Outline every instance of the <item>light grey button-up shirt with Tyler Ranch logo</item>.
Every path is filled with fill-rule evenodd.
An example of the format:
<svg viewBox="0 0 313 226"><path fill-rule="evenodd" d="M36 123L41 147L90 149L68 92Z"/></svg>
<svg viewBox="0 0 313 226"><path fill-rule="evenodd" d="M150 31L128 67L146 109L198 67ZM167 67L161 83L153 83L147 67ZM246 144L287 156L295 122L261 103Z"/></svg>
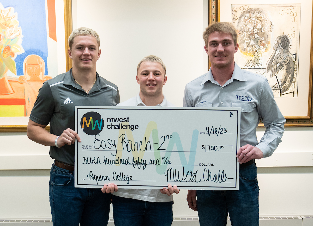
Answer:
<svg viewBox="0 0 313 226"><path fill-rule="evenodd" d="M285 118L281 114L267 79L241 69L236 63L231 79L221 86L208 73L189 82L185 87L183 106L239 107L240 147L258 147L264 157L272 155L284 133ZM260 143L256 137L259 120L266 128Z"/></svg>

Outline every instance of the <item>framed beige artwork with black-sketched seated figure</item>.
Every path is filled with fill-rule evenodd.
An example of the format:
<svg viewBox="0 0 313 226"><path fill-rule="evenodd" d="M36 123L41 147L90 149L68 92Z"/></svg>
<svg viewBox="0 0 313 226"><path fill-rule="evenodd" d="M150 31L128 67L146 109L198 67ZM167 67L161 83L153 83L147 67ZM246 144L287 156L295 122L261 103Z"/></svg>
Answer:
<svg viewBox="0 0 313 226"><path fill-rule="evenodd" d="M261 3L209 0L209 24L231 22L237 29L234 60L268 79L285 126L313 126L312 1Z"/></svg>

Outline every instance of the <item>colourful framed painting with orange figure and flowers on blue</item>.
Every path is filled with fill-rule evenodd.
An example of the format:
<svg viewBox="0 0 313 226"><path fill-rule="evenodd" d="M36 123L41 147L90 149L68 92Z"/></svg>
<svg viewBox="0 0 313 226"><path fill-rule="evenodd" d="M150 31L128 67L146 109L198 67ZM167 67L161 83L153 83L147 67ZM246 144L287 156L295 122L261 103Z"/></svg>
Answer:
<svg viewBox="0 0 313 226"><path fill-rule="evenodd" d="M0 132L26 131L38 90L59 74L60 58L71 67L71 0L60 2L0 0Z"/></svg>

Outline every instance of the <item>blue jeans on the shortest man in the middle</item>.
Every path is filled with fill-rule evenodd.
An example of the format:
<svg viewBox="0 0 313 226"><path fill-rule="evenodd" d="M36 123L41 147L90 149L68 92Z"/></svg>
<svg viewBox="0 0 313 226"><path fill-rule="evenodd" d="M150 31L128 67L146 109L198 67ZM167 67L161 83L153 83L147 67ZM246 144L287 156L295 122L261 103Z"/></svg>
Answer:
<svg viewBox="0 0 313 226"><path fill-rule="evenodd" d="M173 202L146 202L113 195L115 226L171 226Z"/></svg>

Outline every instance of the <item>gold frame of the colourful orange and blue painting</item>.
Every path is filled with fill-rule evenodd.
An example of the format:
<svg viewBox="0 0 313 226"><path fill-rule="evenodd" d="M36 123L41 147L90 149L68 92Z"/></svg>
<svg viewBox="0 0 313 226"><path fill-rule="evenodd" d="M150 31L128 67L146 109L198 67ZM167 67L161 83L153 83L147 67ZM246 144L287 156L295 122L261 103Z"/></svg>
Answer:
<svg viewBox="0 0 313 226"><path fill-rule="evenodd" d="M68 42L67 39L72 32L72 0L64 0L64 31L65 31L65 59L66 59L66 71L72 67L72 61L68 55ZM26 118L26 117L25 117ZM50 126L47 125L46 130L50 130ZM0 132L26 132L27 125L0 125Z"/></svg>

